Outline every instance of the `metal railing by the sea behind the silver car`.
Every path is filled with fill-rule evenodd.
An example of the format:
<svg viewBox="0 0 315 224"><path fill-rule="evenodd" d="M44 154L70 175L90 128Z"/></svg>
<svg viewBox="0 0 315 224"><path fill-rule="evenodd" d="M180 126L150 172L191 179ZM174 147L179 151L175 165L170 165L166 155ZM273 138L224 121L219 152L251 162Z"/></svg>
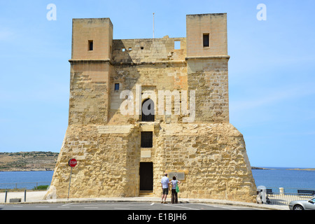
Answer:
<svg viewBox="0 0 315 224"><path fill-rule="evenodd" d="M267 188L267 187L266 187ZM267 188L267 204L288 205L292 201L310 200L314 195L298 193L297 190L314 190L305 188Z"/></svg>

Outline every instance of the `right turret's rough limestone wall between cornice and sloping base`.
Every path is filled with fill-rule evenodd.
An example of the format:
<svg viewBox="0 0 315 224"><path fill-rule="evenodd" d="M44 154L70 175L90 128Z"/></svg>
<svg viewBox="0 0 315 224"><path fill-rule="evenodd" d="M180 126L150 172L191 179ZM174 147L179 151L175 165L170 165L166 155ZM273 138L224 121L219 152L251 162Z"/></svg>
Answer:
<svg viewBox="0 0 315 224"><path fill-rule="evenodd" d="M196 123L229 123L228 57L188 59L189 90L196 91Z"/></svg>

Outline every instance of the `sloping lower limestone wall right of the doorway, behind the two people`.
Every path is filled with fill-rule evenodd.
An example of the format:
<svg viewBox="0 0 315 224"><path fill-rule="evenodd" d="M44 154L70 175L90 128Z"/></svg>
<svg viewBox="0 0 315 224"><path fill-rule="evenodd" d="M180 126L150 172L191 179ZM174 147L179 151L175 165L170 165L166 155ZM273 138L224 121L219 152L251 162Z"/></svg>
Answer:
<svg viewBox="0 0 315 224"><path fill-rule="evenodd" d="M235 127L230 124L161 127L156 173L161 177L164 170L185 172L181 197L253 202L255 182L243 136ZM156 180L155 195L160 193L158 187Z"/></svg>

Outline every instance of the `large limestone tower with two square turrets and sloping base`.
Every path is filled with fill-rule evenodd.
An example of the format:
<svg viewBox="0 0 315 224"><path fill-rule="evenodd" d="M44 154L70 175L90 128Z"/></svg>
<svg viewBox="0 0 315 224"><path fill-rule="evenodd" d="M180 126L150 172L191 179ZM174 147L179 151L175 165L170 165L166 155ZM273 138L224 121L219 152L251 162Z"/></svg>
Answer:
<svg viewBox="0 0 315 224"><path fill-rule="evenodd" d="M244 138L229 123L227 15L187 15L186 38L113 40L74 19L69 126L46 197L161 195L253 202ZM148 113L149 111L149 113Z"/></svg>

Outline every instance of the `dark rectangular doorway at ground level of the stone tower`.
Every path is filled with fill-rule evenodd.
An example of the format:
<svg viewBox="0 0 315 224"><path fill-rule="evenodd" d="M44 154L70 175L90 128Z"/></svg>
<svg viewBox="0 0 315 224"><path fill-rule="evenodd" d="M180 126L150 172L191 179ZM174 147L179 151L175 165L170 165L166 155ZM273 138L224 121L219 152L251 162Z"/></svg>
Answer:
<svg viewBox="0 0 315 224"><path fill-rule="evenodd" d="M140 190L153 190L153 162L140 162Z"/></svg>

